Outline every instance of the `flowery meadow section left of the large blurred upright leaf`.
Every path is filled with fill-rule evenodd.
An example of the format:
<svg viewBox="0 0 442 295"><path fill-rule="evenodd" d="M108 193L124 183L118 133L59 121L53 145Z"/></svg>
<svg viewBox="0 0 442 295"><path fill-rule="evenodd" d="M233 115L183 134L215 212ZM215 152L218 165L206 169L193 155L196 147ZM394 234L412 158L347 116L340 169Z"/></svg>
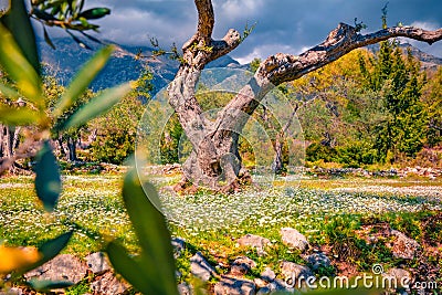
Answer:
<svg viewBox="0 0 442 295"><path fill-rule="evenodd" d="M0 236L10 245L39 245L75 229L65 250L80 256L98 251L102 239L117 238L136 249L135 236L119 197L120 176L64 177L56 210L48 214L38 202L32 178L0 182Z"/></svg>

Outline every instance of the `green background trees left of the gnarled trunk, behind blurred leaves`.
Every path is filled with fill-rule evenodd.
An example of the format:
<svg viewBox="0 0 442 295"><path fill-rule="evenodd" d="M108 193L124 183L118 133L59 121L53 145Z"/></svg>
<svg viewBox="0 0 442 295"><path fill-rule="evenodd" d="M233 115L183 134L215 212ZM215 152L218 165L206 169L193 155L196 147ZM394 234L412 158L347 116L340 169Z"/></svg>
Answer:
<svg viewBox="0 0 442 295"><path fill-rule="evenodd" d="M146 70L140 74L136 82L135 89L114 106L106 115L97 117L87 124L73 127L63 133L53 133L52 144L60 159L76 161L99 161L110 164L123 164L124 160L134 152L137 124L140 119L144 106L143 102L150 98L152 86L150 81L151 73ZM8 84L8 77L2 75L3 83ZM55 106L59 97L65 92L65 87L59 83L55 76L46 75L43 81L43 92L48 99L46 105L51 109ZM65 119L82 105L90 102L97 94L86 91L75 104L64 112L52 124L63 125ZM15 107L24 106L25 102L21 98L11 101L0 96L2 104ZM54 128L57 129L57 128ZM24 158L20 154L20 147L30 134L32 127L21 127L11 125L0 125L0 165L9 165L13 161L11 169L28 168L29 159L24 161L15 160Z"/></svg>

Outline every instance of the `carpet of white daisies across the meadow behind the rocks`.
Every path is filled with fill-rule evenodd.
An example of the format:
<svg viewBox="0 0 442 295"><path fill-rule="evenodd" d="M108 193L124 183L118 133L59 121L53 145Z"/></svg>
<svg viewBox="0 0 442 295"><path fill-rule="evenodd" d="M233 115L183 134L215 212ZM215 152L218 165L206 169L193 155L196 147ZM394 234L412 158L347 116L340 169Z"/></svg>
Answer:
<svg viewBox="0 0 442 295"><path fill-rule="evenodd" d="M159 209L172 235L210 252L231 246L246 233L276 236L293 226L315 243L324 243L328 220L336 217L413 217L442 210L442 180L290 179L281 186L252 186L235 194L198 192L177 196L170 183L178 176L150 179L159 190ZM118 239L137 251L135 235L120 199L122 176L64 176L55 211L36 201L32 177L0 179L0 239L10 245L39 245L75 230L65 250L85 255L102 242ZM351 218L350 218L351 219ZM328 229L329 230L329 229ZM210 249L209 249L210 247Z"/></svg>

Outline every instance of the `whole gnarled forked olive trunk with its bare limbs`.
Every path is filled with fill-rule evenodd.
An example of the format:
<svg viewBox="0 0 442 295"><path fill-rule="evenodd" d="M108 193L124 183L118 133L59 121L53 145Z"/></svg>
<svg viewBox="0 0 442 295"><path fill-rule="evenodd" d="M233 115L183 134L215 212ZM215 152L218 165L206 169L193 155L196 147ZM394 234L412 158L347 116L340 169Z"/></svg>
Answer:
<svg viewBox="0 0 442 295"><path fill-rule="evenodd" d="M197 102L196 84L206 64L228 54L243 39L238 31L231 29L222 40L212 40L214 27L212 2L194 0L194 3L198 10L198 29L182 46L181 65L168 87L169 103L177 112L183 131L193 148L183 165L185 178L180 183L181 187L189 181L193 186L203 185L214 190L238 187L238 176L241 170L241 158L238 152L239 134L249 116L274 86L299 78L355 49L390 38L407 36L429 44L442 39L442 29L425 31L412 27L393 27L362 35L354 27L339 23L322 44L299 56L278 53L263 61L253 78L212 123L204 118L202 108Z"/></svg>

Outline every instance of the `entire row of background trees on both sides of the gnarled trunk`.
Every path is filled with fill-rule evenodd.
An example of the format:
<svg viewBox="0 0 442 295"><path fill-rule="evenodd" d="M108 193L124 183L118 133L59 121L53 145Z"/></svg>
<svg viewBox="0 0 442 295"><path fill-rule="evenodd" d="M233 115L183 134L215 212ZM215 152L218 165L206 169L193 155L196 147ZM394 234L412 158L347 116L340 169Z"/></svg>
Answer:
<svg viewBox="0 0 442 295"><path fill-rule="evenodd" d="M253 61L251 70L256 70L259 63ZM8 77L3 75L2 80L7 82ZM146 70L138 80L137 89L109 113L87 125L53 134L59 156L67 161L123 164L134 152L137 125L152 89L150 80L151 74ZM280 89L297 110L308 146L307 160L356 167L402 161L415 157L424 147L442 144L441 81L441 67L424 72L410 51L403 52L397 41L385 41L375 54L368 50L351 52L295 82L283 84ZM44 92L52 99L48 102L50 107L63 91L54 76L45 77ZM232 98L232 94L225 93L198 94L207 92L204 85L197 92L206 110L224 107ZM93 96L94 93L86 92L63 117L69 117ZM20 99L9 102L18 107L22 103ZM267 148L275 152L273 168L280 173L288 162L287 154L293 151L288 151L283 143L281 130L284 126L277 126L269 114L262 105L253 117L271 137ZM63 117L54 124L62 124ZM32 130L0 127L0 157L13 158L20 141ZM180 155L188 156L191 148L180 146L182 137L183 129L178 116L173 115L159 139L162 164L178 162ZM255 139L260 140L259 137ZM245 164L256 160L252 149L254 144L240 137L239 151Z"/></svg>

